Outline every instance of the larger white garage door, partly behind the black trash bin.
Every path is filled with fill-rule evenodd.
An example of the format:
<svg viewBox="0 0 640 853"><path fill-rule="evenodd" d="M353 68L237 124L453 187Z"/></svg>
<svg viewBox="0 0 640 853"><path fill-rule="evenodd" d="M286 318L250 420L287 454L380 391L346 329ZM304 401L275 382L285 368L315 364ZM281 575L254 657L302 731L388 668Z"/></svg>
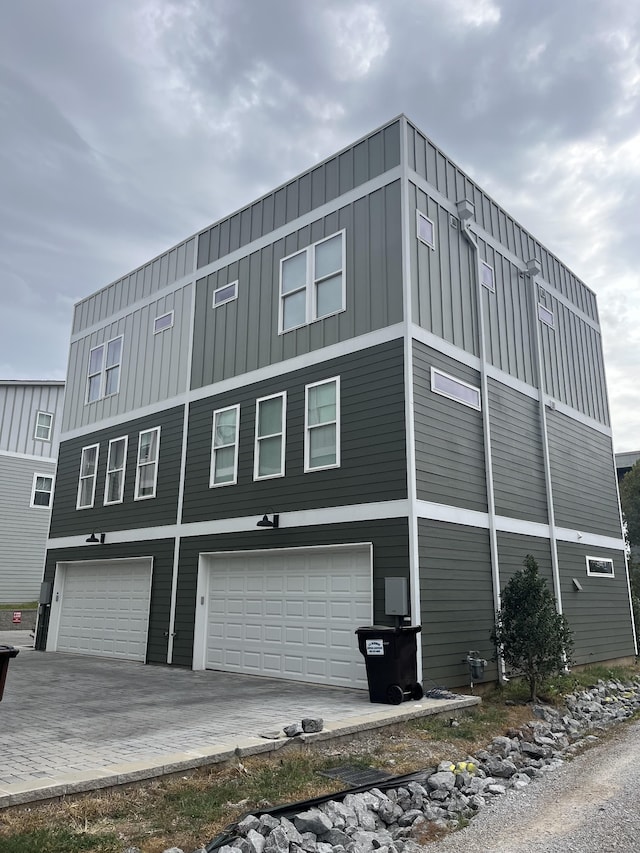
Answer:
<svg viewBox="0 0 640 853"><path fill-rule="evenodd" d="M355 630L371 624L370 546L201 559L207 669L366 688Z"/></svg>

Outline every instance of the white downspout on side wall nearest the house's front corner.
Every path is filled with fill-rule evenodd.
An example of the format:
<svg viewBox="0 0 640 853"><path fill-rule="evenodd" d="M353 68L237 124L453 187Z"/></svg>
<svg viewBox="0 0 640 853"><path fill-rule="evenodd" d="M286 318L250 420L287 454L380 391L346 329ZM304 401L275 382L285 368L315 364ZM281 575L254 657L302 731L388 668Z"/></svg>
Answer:
<svg viewBox="0 0 640 853"><path fill-rule="evenodd" d="M496 532L496 507L493 491L493 462L491 456L491 419L489 412L489 386L487 383L487 358L484 329L484 305L483 292L480 279L480 252L475 235L471 231L471 220L475 214L475 207L469 199L462 199L456 205L458 217L464 234L473 255L473 270L476 280L476 303L478 316L478 337L480 339L480 398L482 400L482 426L484 438L484 470L487 484L487 510L489 515L489 546L491 552L491 581L493 587L493 611L494 618L500 610L500 564L498 562L498 535ZM504 658L497 650L498 655L498 680L500 684L509 681L505 672Z"/></svg>

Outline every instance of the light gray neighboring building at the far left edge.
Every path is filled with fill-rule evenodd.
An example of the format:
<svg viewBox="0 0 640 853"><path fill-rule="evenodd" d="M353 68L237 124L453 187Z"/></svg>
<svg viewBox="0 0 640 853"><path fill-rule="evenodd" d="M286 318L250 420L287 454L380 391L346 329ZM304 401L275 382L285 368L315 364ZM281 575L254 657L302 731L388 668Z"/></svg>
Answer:
<svg viewBox="0 0 640 853"><path fill-rule="evenodd" d="M37 600L64 382L0 380L0 603Z"/></svg>

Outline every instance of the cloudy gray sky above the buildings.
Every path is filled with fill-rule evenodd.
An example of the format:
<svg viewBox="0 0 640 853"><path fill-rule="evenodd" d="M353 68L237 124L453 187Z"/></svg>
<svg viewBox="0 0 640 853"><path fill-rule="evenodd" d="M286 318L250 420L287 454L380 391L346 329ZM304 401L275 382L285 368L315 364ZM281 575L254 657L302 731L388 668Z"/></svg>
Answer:
<svg viewBox="0 0 640 853"><path fill-rule="evenodd" d="M400 112L598 296L640 449L640 3L3 0L0 377L72 305Z"/></svg>

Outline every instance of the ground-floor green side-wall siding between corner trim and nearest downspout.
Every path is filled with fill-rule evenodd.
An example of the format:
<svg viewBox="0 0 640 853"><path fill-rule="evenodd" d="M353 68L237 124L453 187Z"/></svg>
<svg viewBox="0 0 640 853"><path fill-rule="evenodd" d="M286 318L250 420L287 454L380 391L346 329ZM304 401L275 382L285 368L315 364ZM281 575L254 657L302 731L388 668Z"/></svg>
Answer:
<svg viewBox="0 0 640 853"><path fill-rule="evenodd" d="M495 680L489 531L419 519L418 553L425 685L468 684L471 650L489 661L485 680Z"/></svg>

